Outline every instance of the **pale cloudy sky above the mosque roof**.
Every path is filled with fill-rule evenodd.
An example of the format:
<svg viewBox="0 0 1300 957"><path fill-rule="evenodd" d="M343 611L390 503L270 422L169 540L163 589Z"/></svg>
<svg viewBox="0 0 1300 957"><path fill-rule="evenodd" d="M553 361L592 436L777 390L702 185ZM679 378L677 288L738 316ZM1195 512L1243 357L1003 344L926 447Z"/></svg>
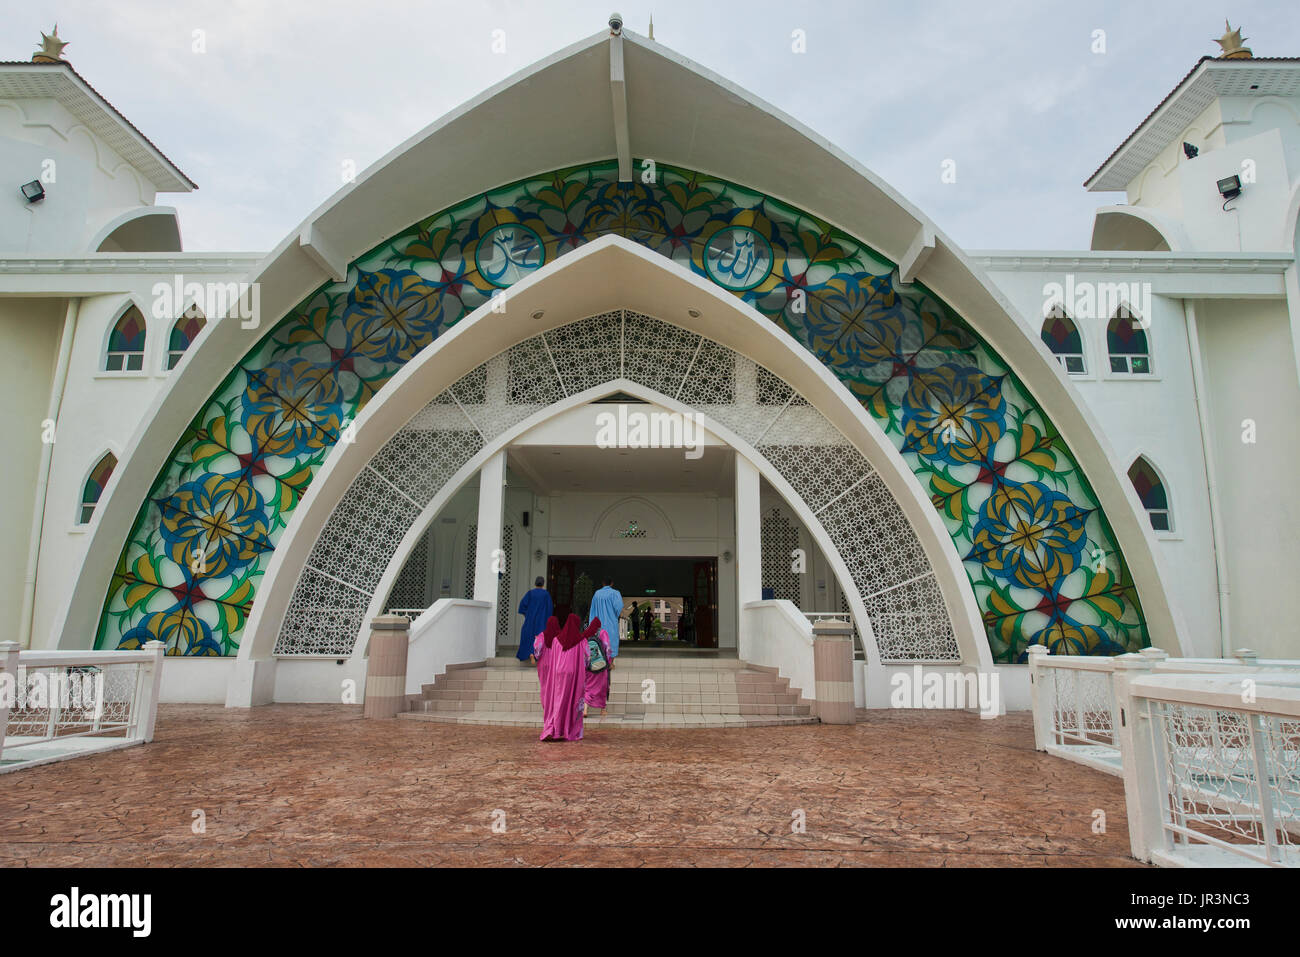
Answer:
<svg viewBox="0 0 1300 957"><path fill-rule="evenodd" d="M653 13L660 43L802 120L967 248L1087 248L1092 209L1122 195L1083 181L1218 52L1225 12L1256 56L1300 56L1295 0L27 0L4 13L0 60L29 59L57 21L66 59L199 183L159 198L186 248L260 251L338 189L343 160L365 169L603 29L615 3L629 30Z"/></svg>

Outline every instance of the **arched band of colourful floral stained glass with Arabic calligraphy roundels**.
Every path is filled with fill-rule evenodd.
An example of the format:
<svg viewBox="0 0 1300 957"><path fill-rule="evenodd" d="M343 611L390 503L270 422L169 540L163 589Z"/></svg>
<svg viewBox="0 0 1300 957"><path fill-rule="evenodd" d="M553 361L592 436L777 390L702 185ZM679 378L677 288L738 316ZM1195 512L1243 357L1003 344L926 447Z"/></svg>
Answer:
<svg viewBox="0 0 1300 957"><path fill-rule="evenodd" d="M1050 421L922 283L827 222L734 183L612 160L491 190L413 224L244 356L181 437L122 550L98 646L234 654L292 511L347 424L491 295L602 235L728 289L829 368L928 488L997 661L1034 644L1148 644L1096 495Z"/></svg>

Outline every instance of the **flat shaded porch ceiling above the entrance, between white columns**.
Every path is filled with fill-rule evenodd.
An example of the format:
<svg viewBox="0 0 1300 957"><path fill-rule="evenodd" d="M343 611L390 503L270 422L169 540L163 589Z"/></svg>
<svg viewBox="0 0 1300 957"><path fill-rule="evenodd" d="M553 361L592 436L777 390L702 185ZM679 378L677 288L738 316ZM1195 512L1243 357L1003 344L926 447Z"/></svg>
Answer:
<svg viewBox="0 0 1300 957"><path fill-rule="evenodd" d="M685 449L597 449L593 446L521 446L510 450L511 473L533 492L676 492L731 495L736 488L734 452L703 446L688 459Z"/></svg>

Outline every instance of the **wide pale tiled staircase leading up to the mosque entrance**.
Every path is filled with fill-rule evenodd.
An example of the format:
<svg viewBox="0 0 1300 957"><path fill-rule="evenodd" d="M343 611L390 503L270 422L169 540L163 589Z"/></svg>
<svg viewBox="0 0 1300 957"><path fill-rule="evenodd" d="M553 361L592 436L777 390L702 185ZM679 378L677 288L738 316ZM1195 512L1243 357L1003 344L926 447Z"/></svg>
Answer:
<svg viewBox="0 0 1300 957"><path fill-rule="evenodd" d="M646 679L654 683L647 697ZM515 658L454 664L421 694L407 696L399 718L447 724L542 727L537 671ZM588 727L753 728L814 724L810 702L789 681L725 653L675 654L624 645L610 683L610 707Z"/></svg>

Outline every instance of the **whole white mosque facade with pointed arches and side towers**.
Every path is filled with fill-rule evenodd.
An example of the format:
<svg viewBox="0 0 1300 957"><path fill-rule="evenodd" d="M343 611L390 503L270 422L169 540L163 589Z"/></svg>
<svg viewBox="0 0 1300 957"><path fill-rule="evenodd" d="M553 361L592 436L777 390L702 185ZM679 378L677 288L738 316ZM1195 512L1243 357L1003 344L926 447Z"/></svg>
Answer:
<svg viewBox="0 0 1300 957"><path fill-rule="evenodd" d="M23 648L337 701L378 614L437 670L608 573L794 685L796 619L852 616L871 707L915 663L1023 707L1035 644L1300 657L1300 60L1197 62L1088 181L1124 194L1088 250L958 248L630 31L269 254L183 251L195 185L56 56L0 64L0 173Z"/></svg>

